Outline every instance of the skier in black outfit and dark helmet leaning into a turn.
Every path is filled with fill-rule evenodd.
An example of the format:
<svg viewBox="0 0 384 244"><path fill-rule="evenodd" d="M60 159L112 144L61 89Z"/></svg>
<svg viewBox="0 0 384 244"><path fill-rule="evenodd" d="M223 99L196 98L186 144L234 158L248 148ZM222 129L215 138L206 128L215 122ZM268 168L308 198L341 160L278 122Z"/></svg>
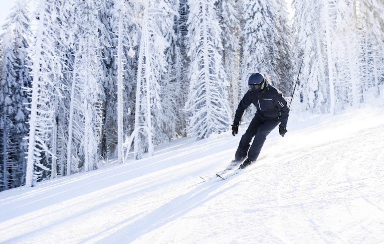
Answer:
<svg viewBox="0 0 384 244"><path fill-rule="evenodd" d="M228 170L233 169L238 165L240 165L240 169L243 169L256 161L260 154L261 147L264 144L265 137L279 123L280 135L284 136L287 132L286 127L289 108L281 92L269 84L264 76L259 73L253 73L249 77L248 86L249 90L241 99L235 113L235 118L232 124L233 136L238 132L239 123L244 110L247 109L249 105L253 104L257 111L247 130L241 137L235 153L235 160L228 165ZM255 138L250 146L252 137ZM244 161L247 154L248 158ZM241 162L243 163L241 164Z"/></svg>

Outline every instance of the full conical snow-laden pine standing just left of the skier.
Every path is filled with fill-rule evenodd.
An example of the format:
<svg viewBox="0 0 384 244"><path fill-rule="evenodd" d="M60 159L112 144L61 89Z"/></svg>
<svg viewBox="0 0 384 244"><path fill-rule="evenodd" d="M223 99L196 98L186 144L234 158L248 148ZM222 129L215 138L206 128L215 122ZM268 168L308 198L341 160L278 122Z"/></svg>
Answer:
<svg viewBox="0 0 384 244"><path fill-rule="evenodd" d="M190 113L189 131L197 135L197 139L228 130L231 119L227 100L229 83L222 63L221 27L215 2L188 2L188 55L191 66L185 109Z"/></svg>

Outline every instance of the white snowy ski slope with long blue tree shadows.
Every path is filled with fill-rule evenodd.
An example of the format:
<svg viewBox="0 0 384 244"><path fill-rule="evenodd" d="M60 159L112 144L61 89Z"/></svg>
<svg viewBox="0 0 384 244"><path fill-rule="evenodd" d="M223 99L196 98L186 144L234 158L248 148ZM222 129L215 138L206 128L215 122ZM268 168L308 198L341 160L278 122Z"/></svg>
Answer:
<svg viewBox="0 0 384 244"><path fill-rule="evenodd" d="M302 118L302 117L300 117ZM384 243L384 106L291 113L226 180L241 134L0 192L0 243Z"/></svg>

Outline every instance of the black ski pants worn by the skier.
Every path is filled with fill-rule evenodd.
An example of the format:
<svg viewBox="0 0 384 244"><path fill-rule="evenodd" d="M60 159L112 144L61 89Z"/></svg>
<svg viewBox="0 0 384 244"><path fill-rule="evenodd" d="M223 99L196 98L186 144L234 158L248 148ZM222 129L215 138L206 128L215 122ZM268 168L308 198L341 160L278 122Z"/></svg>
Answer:
<svg viewBox="0 0 384 244"><path fill-rule="evenodd" d="M243 161L248 154L248 158L250 160L256 161L260 154L261 147L264 145L265 138L279 123L280 121L277 118L265 118L264 116L256 113L255 117L250 122L247 131L245 131L241 137L235 154L235 160ZM250 146L253 136L255 138Z"/></svg>

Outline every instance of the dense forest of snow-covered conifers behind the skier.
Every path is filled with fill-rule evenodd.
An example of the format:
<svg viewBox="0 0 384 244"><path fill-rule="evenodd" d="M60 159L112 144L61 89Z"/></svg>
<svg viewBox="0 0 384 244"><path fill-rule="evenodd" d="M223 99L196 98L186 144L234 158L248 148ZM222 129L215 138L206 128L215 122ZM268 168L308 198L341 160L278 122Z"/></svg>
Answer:
<svg viewBox="0 0 384 244"><path fill-rule="evenodd" d="M383 97L382 0L36 4L1 26L0 191L225 132L254 72L296 115Z"/></svg>

